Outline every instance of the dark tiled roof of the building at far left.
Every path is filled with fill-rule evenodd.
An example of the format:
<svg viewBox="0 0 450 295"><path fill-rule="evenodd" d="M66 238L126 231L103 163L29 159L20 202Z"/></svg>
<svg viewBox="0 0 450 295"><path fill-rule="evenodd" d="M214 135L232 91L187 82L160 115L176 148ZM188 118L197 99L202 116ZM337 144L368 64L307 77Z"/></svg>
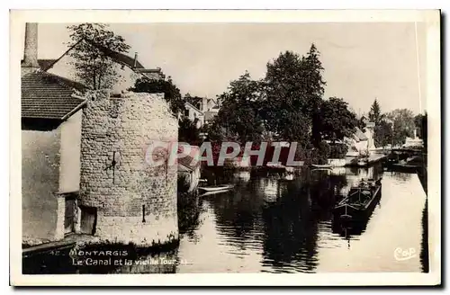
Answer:
<svg viewBox="0 0 450 295"><path fill-rule="evenodd" d="M40 70L22 77L22 118L66 120L85 100L73 96L85 86Z"/></svg>

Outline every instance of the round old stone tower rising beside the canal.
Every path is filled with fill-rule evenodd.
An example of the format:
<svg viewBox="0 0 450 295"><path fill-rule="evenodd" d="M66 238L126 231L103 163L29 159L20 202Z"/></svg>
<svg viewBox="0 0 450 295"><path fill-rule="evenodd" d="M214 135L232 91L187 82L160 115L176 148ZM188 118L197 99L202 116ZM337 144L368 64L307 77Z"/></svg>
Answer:
<svg viewBox="0 0 450 295"><path fill-rule="evenodd" d="M151 246L178 237L176 165L146 161L150 145L177 141L178 122L163 95L88 96L78 204L96 209L101 242Z"/></svg>

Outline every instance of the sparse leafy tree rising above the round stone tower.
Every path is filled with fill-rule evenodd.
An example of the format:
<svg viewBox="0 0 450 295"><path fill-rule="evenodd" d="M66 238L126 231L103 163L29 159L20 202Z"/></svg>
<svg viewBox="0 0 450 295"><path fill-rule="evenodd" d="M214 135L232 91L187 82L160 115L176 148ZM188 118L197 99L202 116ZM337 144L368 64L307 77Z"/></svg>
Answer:
<svg viewBox="0 0 450 295"><path fill-rule="evenodd" d="M130 49L121 36L108 31L107 27L108 25L103 23L67 26L71 32L71 41L68 45L73 47L68 52L68 56L74 58L71 64L75 67L76 76L80 81L93 89L111 88L120 77L118 65L94 44L123 53Z"/></svg>

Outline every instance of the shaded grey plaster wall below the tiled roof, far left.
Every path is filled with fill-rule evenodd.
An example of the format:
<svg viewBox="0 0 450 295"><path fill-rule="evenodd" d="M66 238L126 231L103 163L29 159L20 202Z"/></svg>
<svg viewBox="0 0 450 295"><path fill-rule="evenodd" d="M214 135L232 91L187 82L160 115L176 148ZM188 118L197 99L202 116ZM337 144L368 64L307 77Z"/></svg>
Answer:
<svg viewBox="0 0 450 295"><path fill-rule="evenodd" d="M58 231L58 179L61 128L22 130L23 243L61 238ZM62 204L63 205L63 204Z"/></svg>

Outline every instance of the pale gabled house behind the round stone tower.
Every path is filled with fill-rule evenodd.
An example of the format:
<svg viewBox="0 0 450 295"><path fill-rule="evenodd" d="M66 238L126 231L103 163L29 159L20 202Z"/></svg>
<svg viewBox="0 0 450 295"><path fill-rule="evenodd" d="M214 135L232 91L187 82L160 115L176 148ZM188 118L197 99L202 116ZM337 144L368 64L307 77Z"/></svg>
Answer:
<svg viewBox="0 0 450 295"><path fill-rule="evenodd" d="M117 72L120 75L119 81L112 86L112 92L121 92L127 90L134 85L135 81L140 77L148 79L160 79L163 77L160 68L146 68L138 60L138 53L134 58L129 57L121 52L108 49L101 44L97 44L92 40L80 40L74 46L67 49L59 58L40 60L40 68L43 71L54 75L63 76L71 80L78 80L76 70L73 66L74 59L70 57L70 51L75 49L81 42L86 42L95 49L99 49L103 55L111 58L115 63Z"/></svg>

